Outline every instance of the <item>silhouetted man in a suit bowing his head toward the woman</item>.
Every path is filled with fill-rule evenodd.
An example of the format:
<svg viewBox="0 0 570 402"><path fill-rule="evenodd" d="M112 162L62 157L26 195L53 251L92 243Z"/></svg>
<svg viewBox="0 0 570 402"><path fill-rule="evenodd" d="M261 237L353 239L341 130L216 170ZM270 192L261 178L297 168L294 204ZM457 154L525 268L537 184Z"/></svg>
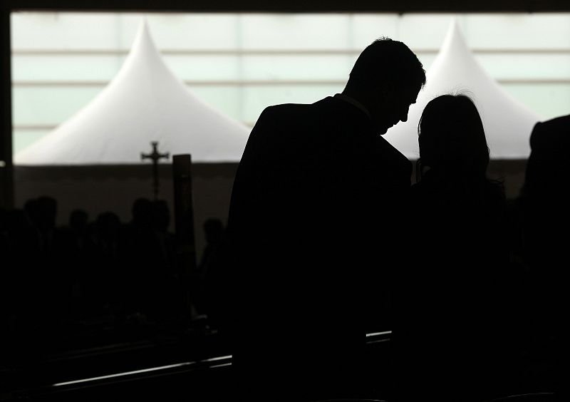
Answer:
<svg viewBox="0 0 570 402"><path fill-rule="evenodd" d="M415 54L382 38L342 93L259 116L228 221L242 400L361 395L365 304L388 319L381 289L403 258L398 208L412 172L381 135L408 119L424 83Z"/></svg>

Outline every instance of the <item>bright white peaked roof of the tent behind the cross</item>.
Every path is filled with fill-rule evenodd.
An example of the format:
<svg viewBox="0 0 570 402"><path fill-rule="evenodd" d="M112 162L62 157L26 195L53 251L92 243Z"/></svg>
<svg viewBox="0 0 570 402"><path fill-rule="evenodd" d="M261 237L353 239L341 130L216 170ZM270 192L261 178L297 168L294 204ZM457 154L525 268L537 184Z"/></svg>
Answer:
<svg viewBox="0 0 570 402"><path fill-rule="evenodd" d="M237 162L249 128L198 100L165 65L142 21L123 67L85 108L14 155L15 165L140 163L162 152L195 162Z"/></svg>

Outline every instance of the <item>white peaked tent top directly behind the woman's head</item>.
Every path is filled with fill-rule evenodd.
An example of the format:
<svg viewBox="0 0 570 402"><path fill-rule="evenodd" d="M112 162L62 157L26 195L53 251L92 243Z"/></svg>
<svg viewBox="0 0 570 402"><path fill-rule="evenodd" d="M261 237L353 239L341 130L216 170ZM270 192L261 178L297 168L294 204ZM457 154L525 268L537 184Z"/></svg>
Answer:
<svg viewBox="0 0 570 402"><path fill-rule="evenodd" d="M465 93L475 101L492 159L528 158L530 133L541 118L487 75L467 48L455 19L426 76L425 87L410 107L408 121L398 123L385 134L385 139L408 159L419 157L418 123L425 105L446 93Z"/></svg>

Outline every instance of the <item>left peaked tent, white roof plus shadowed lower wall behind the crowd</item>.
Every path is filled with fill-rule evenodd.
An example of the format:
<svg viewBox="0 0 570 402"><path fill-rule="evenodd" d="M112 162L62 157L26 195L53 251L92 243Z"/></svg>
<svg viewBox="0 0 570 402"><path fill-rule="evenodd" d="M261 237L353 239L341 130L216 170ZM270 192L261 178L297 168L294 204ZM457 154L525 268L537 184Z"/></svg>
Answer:
<svg viewBox="0 0 570 402"><path fill-rule="evenodd" d="M197 252L202 224L227 219L237 163L249 128L198 100L167 66L142 21L113 81L86 107L14 155L16 206L40 195L58 200L58 225L76 208L91 219L106 211L131 219L138 197L152 198L152 168L141 153L192 155ZM159 165L159 197L173 211L172 168ZM173 222L172 222L173 223Z"/></svg>

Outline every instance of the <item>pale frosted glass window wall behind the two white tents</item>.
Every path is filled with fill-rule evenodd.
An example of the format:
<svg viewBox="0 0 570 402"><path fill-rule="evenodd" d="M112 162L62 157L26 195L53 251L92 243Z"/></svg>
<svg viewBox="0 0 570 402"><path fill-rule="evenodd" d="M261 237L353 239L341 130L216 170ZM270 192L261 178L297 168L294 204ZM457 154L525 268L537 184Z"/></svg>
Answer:
<svg viewBox="0 0 570 402"><path fill-rule="evenodd" d="M452 19L489 76L544 119L570 110L570 13L177 14L14 12L14 150L86 106L120 70L141 19L173 73L212 108L252 125L276 103L342 91L375 38L424 68Z"/></svg>

